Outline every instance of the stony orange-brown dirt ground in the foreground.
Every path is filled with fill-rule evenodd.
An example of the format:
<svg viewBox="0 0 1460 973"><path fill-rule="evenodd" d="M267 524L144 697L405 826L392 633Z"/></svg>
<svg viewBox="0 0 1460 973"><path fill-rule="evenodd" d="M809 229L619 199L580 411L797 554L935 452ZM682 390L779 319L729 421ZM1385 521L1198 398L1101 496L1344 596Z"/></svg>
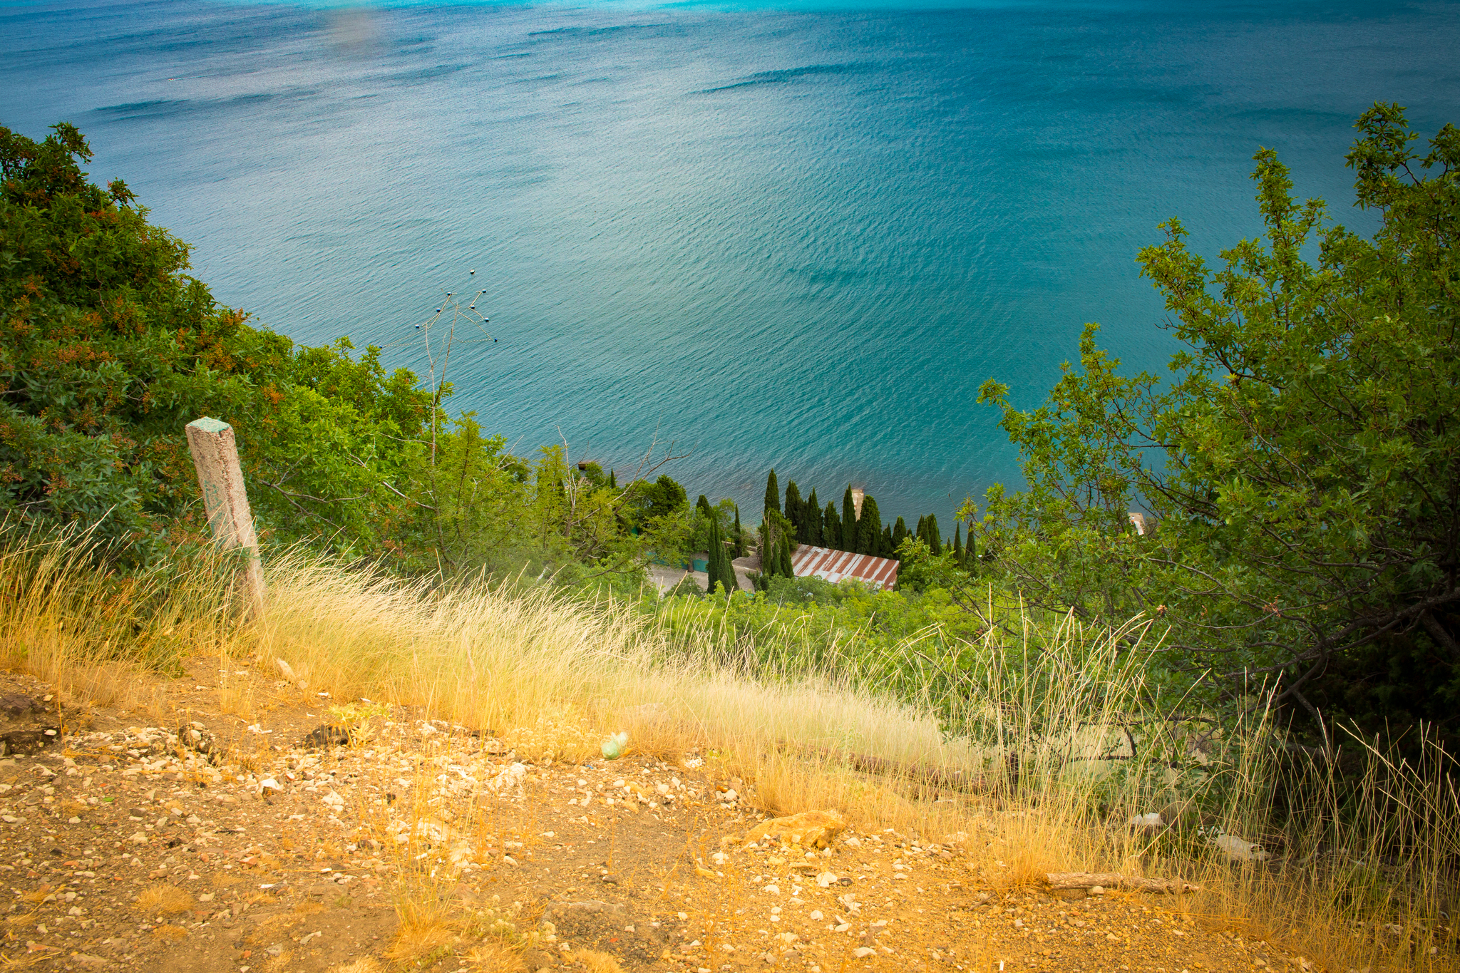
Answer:
<svg viewBox="0 0 1460 973"><path fill-rule="evenodd" d="M331 700L210 661L155 700L0 674L0 970L1311 969L1183 897L1007 890L997 817L745 848L712 754L571 763L399 709L310 740Z"/></svg>

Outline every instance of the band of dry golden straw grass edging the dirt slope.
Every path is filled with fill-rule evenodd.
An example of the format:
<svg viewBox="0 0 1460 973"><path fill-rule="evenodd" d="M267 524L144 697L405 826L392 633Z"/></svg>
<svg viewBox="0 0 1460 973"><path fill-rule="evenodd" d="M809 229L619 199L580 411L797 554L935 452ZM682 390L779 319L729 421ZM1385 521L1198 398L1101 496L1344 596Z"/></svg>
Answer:
<svg viewBox="0 0 1460 973"><path fill-rule="evenodd" d="M74 543L10 541L0 658L83 699L123 699L115 672L182 651L270 672L282 661L311 693L428 708L542 760L583 759L626 729L631 748L698 750L712 770L752 780L772 813L835 808L861 827L962 831L987 849L996 887L1034 885L1053 869L1183 877L1206 887L1193 912L1332 970L1460 969L1448 931L1460 861L1453 760L1431 747L1416 767L1355 740L1368 776L1340 789L1326 764L1275 759L1282 735L1260 716L1216 734L1162 722L1169 709L1146 681L1156 633L1139 624L1016 614L1016 636L991 630L952 681L899 700L856 678L864 659L831 667L853 674L841 680L750 672L715 662L730 646L710 629L672 637L625 607L543 588L431 586L285 554L267 569L264 617L250 623L215 559L115 579ZM942 665L926 633L902 648ZM867 773L867 759L882 772ZM981 786L939 789L907 767ZM1273 814L1279 796L1283 815ZM1162 808L1175 827L1126 826ZM1229 861L1218 834L1259 840L1273 858ZM456 937L431 877L407 880L422 887L399 899L396 961Z"/></svg>

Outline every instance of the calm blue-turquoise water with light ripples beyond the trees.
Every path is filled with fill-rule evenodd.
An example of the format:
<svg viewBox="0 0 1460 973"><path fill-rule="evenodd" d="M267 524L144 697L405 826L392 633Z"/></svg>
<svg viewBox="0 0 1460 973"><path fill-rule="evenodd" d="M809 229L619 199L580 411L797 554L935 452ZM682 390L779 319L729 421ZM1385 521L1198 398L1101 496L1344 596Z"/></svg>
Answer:
<svg viewBox="0 0 1460 973"><path fill-rule="evenodd" d="M1037 403L1085 321L1164 365L1158 222L1253 235L1273 146L1368 226L1353 118L1460 123L1456 4L749 6L10 4L0 124L80 125L301 341L420 369L412 325L485 287L448 378L518 449L623 471L657 429L748 515L774 464L948 522L1018 478L986 378Z"/></svg>

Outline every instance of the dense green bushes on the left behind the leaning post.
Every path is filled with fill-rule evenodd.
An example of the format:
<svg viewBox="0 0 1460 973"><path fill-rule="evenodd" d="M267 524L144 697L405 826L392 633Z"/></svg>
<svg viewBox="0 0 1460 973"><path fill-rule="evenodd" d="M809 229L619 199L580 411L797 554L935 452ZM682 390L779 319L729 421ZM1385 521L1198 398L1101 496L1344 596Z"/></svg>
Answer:
<svg viewBox="0 0 1460 973"><path fill-rule="evenodd" d="M419 460L402 441L432 395L374 350L248 327L123 182L86 181L89 158L67 124L41 143L0 128L0 508L155 556L188 530L182 426L210 414L235 426L266 531L380 540L410 506L384 483Z"/></svg>

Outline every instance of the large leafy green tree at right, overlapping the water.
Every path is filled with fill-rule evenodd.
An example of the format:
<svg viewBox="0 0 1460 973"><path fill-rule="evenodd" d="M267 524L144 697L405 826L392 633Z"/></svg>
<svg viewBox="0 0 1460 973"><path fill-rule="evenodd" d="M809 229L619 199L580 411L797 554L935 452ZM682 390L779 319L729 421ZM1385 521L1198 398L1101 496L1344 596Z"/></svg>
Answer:
<svg viewBox="0 0 1460 973"><path fill-rule="evenodd" d="M1453 734L1460 131L1419 155L1397 105L1355 127L1372 239L1294 200L1263 149L1263 239L1212 271L1172 219L1140 252L1186 346L1169 375L1120 375L1089 325L1045 406L984 385L1028 483L990 490L984 548L1038 605L1159 616L1193 680L1215 675L1202 686L1280 680L1276 699L1327 740L1324 709ZM1137 534L1127 511L1159 528Z"/></svg>

